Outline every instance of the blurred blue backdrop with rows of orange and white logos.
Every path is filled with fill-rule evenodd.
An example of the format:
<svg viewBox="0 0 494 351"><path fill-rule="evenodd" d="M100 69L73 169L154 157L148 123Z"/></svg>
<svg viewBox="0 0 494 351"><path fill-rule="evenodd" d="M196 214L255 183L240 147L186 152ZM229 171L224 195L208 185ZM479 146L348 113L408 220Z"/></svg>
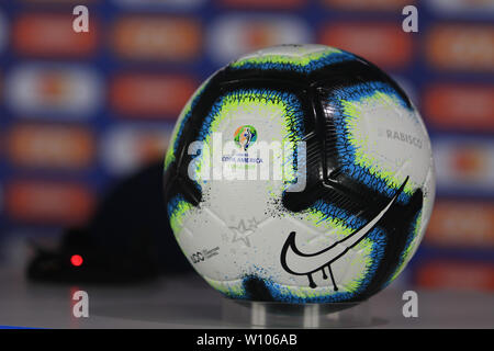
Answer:
<svg viewBox="0 0 494 351"><path fill-rule="evenodd" d="M89 33L71 30L76 4ZM402 31L406 4L418 33ZM2 0L0 262L25 260L26 237L85 223L116 179L162 159L221 66L322 43L391 73L429 128L437 202L407 280L494 291L493 20L491 0Z"/></svg>

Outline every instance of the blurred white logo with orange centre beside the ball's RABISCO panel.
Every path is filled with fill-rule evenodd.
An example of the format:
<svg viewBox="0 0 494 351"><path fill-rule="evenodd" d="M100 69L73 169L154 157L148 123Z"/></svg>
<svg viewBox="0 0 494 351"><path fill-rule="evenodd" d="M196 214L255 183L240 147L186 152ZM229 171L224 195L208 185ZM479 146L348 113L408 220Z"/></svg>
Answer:
<svg viewBox="0 0 494 351"><path fill-rule="evenodd" d="M493 140L436 138L433 149L439 189L494 190Z"/></svg>

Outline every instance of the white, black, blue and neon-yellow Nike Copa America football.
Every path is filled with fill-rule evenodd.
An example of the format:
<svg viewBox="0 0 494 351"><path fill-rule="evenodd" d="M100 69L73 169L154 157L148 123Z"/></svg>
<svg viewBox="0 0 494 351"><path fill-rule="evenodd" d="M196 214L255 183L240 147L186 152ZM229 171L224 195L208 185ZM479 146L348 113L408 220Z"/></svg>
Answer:
<svg viewBox="0 0 494 351"><path fill-rule="evenodd" d="M210 77L165 158L167 215L231 298L358 303L404 270L435 196L411 100L366 59L282 45Z"/></svg>

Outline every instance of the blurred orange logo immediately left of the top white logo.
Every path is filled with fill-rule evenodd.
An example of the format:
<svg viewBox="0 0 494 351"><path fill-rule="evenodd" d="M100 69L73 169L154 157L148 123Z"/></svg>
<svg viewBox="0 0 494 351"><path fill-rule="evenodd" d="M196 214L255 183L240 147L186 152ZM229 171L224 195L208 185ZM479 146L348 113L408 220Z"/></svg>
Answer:
<svg viewBox="0 0 494 351"><path fill-rule="evenodd" d="M194 20L126 16L115 22L112 45L126 59L192 59L200 52L201 29Z"/></svg>

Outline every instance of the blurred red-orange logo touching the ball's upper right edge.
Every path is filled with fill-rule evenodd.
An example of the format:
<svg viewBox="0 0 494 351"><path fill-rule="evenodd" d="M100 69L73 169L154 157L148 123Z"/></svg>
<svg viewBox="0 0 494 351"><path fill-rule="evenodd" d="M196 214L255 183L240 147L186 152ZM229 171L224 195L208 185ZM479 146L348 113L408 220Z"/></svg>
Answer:
<svg viewBox="0 0 494 351"><path fill-rule="evenodd" d="M323 27L321 42L364 57L385 68L400 68L413 58L412 35L395 23L337 23Z"/></svg>

